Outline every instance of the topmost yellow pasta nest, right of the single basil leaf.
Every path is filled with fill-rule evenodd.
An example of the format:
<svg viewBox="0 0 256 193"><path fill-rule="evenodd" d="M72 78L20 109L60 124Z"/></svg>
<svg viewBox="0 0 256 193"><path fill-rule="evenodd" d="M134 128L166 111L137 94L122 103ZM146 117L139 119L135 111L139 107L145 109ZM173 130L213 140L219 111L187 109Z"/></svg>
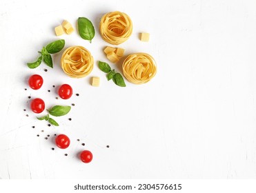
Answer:
<svg viewBox="0 0 256 193"><path fill-rule="evenodd" d="M109 12L101 18L99 30L105 41L118 45L132 34L132 21L124 12Z"/></svg>

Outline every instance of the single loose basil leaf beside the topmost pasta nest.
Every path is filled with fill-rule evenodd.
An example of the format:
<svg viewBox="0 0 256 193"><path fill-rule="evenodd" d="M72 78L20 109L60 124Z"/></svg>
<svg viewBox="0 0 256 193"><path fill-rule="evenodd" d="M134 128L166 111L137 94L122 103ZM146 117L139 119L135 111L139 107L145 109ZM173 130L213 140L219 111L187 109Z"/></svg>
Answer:
<svg viewBox="0 0 256 193"><path fill-rule="evenodd" d="M77 24L80 37L92 43L92 39L95 37L95 27L93 27L92 22L85 17L79 17Z"/></svg>

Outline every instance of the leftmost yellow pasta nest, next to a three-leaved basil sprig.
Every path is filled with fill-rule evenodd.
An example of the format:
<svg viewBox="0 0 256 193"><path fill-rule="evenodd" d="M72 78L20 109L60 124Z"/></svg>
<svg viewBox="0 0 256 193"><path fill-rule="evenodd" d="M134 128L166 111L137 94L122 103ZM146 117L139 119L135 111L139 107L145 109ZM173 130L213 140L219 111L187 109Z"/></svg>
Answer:
<svg viewBox="0 0 256 193"><path fill-rule="evenodd" d="M61 57L61 68L72 78L86 77L92 71L93 63L90 52L79 45L67 48Z"/></svg>

